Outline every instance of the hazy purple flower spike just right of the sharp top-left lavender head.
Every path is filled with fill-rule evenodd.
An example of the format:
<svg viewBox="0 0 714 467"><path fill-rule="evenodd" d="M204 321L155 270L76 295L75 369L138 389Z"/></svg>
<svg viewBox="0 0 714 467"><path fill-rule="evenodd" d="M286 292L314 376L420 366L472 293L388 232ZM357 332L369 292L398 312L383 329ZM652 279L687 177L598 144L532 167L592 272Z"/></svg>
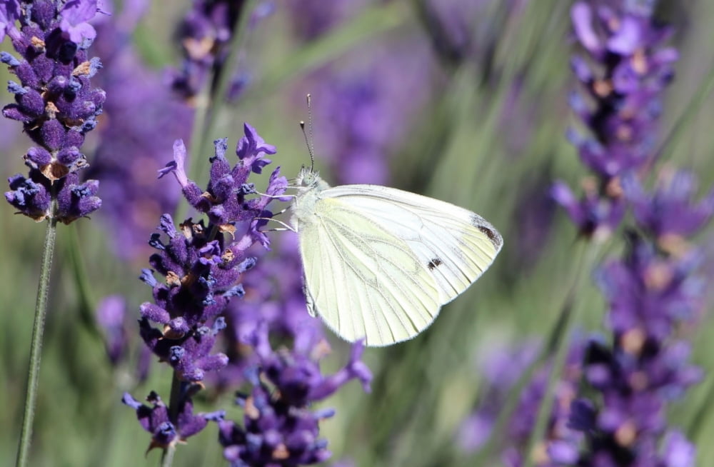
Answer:
<svg viewBox="0 0 714 467"><path fill-rule="evenodd" d="M180 193L171 180L156 181L154 174L170 154L167 148L190 133L193 121L193 110L173 96L160 73L141 61L131 42L145 7L136 1L125 4L112 21L96 24L99 36L94 42L113 70L99 82L114 99L104 106L107 124L99 127L101 139L89 176L101 179L106 202L99 219L116 254L125 260L146 254L146 236L156 219L176 209Z"/></svg>

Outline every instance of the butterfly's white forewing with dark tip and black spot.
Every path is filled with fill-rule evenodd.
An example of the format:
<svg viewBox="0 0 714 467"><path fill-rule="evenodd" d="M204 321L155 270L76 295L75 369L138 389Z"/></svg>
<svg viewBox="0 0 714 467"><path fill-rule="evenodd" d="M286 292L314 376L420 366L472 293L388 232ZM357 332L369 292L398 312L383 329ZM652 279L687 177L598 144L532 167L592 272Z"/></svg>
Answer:
<svg viewBox="0 0 714 467"><path fill-rule="evenodd" d="M343 185L322 196L339 200L413 251L448 303L483 274L503 246L498 231L478 214L445 201L378 185Z"/></svg>

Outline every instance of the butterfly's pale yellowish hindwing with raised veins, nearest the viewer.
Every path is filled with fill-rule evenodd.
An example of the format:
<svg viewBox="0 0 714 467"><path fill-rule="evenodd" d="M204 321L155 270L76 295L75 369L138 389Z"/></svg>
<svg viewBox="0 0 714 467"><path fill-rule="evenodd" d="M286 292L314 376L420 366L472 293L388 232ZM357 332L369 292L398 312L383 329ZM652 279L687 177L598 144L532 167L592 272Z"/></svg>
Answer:
<svg viewBox="0 0 714 467"><path fill-rule="evenodd" d="M440 287L433 275L371 213L322 197L300 217L298 233L308 307L342 338L385 346L416 336L436 318Z"/></svg>

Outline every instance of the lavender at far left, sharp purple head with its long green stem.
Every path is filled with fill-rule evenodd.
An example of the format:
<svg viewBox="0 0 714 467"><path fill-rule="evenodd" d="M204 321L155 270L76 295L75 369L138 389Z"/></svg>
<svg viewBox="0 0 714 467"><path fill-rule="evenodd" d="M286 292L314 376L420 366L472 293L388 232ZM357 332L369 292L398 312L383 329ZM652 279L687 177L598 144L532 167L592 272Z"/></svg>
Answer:
<svg viewBox="0 0 714 467"><path fill-rule="evenodd" d="M56 224L70 224L101 206L99 182L79 178L88 165L80 148L106 99L90 81L101 62L87 52L96 37L87 21L97 11L96 0L10 0L0 5L0 39L9 36L21 56L0 53L0 61L19 79L9 81L15 103L4 106L2 113L22 122L36 144L24 155L28 176L11 176L5 199L20 214L47 221L18 466L25 466L29 457Z"/></svg>

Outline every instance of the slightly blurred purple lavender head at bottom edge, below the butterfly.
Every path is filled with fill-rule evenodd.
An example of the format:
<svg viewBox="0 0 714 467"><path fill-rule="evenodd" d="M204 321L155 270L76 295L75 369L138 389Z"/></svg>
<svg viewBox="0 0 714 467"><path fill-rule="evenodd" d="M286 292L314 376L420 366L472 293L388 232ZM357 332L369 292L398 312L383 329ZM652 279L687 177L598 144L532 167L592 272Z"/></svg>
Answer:
<svg viewBox="0 0 714 467"><path fill-rule="evenodd" d="M239 395L243 426L219 421L219 441L223 456L231 466L306 465L325 461L331 455L327 441L319 436L319 421L334 415L323 409L310 411L309 405L330 396L353 378L366 391L372 375L362 363L363 344L353 345L350 361L332 376L321 374L318 360L324 344L307 353L286 348L274 351L268 343L268 326L262 323L252 336L258 363L247 371L253 389ZM275 390L271 390L269 385Z"/></svg>

